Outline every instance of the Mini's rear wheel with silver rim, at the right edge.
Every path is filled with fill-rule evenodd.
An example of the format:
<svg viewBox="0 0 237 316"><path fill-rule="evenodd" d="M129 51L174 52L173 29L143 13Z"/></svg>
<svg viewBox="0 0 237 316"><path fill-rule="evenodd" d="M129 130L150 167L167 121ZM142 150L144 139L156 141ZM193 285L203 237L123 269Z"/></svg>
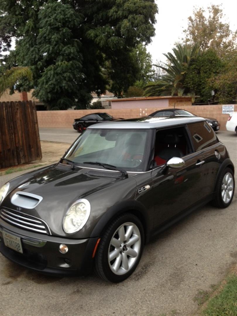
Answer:
<svg viewBox="0 0 237 316"><path fill-rule="evenodd" d="M220 208L228 207L234 196L234 173L226 168L221 173L216 184L214 204Z"/></svg>

